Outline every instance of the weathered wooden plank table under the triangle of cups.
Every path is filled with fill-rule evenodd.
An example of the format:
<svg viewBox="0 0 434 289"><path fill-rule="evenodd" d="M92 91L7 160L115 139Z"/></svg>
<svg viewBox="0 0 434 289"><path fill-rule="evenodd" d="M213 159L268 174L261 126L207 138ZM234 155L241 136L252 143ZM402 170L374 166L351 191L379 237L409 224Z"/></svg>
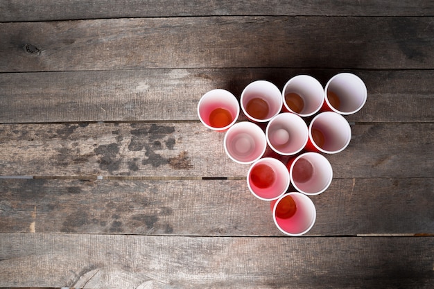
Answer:
<svg viewBox="0 0 434 289"><path fill-rule="evenodd" d="M433 1L119 2L0 2L0 287L434 288ZM198 100L342 71L367 103L284 236Z"/></svg>

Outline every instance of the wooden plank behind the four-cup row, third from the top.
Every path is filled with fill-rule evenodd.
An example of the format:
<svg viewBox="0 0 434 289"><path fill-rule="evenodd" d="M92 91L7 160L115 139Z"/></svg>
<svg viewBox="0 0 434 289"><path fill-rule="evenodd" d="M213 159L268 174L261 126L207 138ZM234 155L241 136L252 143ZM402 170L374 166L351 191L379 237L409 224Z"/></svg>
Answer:
<svg viewBox="0 0 434 289"><path fill-rule="evenodd" d="M241 96L248 83L266 79L279 89L299 74L323 86L336 69L143 69L0 73L0 123L77 121L191 121L206 91ZM367 85L361 122L434 121L434 70L351 71ZM241 115L240 120L245 120Z"/></svg>

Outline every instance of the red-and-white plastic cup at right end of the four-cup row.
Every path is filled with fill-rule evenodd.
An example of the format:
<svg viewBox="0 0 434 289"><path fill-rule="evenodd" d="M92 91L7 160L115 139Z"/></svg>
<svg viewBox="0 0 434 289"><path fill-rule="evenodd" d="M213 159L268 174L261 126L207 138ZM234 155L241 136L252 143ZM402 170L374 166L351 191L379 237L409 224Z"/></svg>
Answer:
<svg viewBox="0 0 434 289"><path fill-rule="evenodd" d="M361 110L367 98L366 85L352 73L338 73L330 78L324 88L324 111L354 114Z"/></svg>

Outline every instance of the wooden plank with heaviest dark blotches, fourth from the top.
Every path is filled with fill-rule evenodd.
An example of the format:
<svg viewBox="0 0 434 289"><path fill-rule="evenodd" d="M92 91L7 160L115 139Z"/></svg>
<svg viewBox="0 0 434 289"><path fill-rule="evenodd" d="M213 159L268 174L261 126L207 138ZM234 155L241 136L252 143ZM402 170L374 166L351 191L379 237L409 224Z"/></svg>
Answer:
<svg viewBox="0 0 434 289"><path fill-rule="evenodd" d="M347 149L327 155L334 177L432 177L433 125L353 125ZM201 123L0 125L0 175L245 177L224 135Z"/></svg>

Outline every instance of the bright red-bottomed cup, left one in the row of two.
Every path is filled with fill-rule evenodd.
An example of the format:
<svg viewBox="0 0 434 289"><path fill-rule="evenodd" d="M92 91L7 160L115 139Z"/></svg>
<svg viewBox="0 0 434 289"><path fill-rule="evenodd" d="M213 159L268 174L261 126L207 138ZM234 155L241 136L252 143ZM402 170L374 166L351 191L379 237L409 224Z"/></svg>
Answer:
<svg viewBox="0 0 434 289"><path fill-rule="evenodd" d="M289 173L286 166L272 157L255 161L247 173L250 192L260 200L276 200L289 187Z"/></svg>

